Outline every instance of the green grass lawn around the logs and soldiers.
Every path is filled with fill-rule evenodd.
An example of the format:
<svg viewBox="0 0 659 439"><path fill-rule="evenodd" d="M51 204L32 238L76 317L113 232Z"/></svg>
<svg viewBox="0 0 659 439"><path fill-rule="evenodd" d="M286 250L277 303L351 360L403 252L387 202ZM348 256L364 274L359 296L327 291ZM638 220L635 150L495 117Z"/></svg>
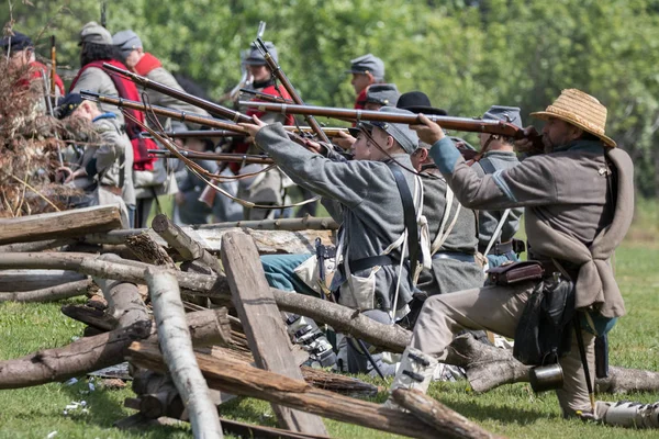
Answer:
<svg viewBox="0 0 659 439"><path fill-rule="evenodd" d="M610 334L611 364L659 370L659 245L657 204L641 202L634 229L616 254L616 279L627 307ZM81 336L82 325L65 317L57 304L0 304L0 360L18 358L38 349L64 346ZM371 382L381 384L377 381ZM0 439L45 438L188 438L186 427L160 427L145 431L119 431L112 423L133 414L123 399L133 396L97 387L88 392L81 380L75 385L53 383L32 389L2 391L0 395ZM492 432L511 438L651 438L657 431L625 430L563 420L552 393L534 395L527 384L506 385L485 394L473 394L466 382L434 383L431 395ZM382 402L386 393L373 401ZM659 393L600 395L603 401L659 401ZM89 413L64 415L67 404L85 399ZM275 425L267 403L242 399L223 407L222 415L253 424ZM337 438L391 437L376 430L326 420Z"/></svg>

